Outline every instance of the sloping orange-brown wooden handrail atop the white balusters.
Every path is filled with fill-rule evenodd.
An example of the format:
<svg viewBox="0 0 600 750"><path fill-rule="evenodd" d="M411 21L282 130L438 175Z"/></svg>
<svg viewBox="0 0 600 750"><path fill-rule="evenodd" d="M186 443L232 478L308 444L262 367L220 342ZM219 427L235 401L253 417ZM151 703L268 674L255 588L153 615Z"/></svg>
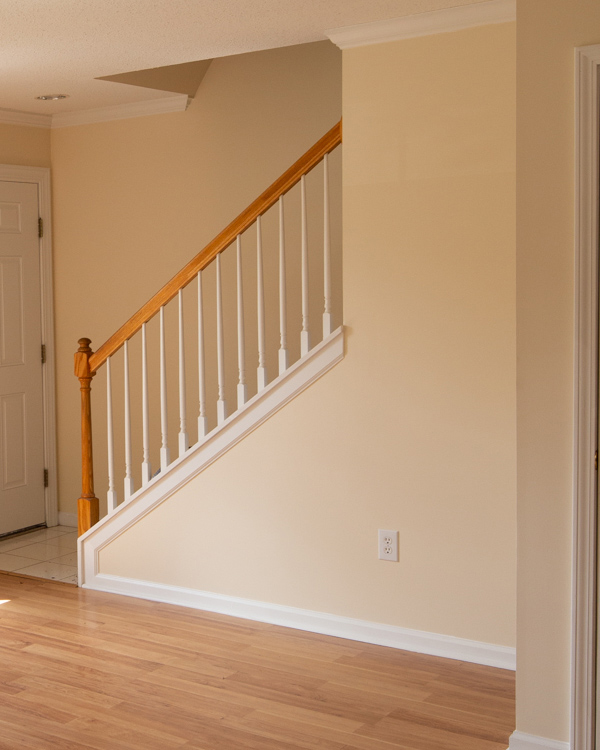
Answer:
<svg viewBox="0 0 600 750"><path fill-rule="evenodd" d="M242 234L256 219L264 214L271 206L275 205L279 198L291 190L303 175L308 174L317 166L321 159L333 151L342 142L341 120L326 133L314 146L301 156L281 177L267 188L248 208L234 219L228 227L220 232L206 247L201 250L184 268L179 271L163 288L157 292L152 299L146 302L119 330L114 333L102 346L89 358L91 371L97 370L106 360L123 346L127 339L140 330L163 305L173 299L180 289L194 279L198 273L225 250L239 235Z"/></svg>

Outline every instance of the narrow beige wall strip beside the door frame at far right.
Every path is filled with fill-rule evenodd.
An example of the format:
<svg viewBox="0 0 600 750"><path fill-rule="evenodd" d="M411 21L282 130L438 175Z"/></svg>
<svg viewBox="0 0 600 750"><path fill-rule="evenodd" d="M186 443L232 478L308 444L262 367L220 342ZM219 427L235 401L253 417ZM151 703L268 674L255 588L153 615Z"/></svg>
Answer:
<svg viewBox="0 0 600 750"><path fill-rule="evenodd" d="M517 727L569 738L574 48L595 0L517 3Z"/></svg>

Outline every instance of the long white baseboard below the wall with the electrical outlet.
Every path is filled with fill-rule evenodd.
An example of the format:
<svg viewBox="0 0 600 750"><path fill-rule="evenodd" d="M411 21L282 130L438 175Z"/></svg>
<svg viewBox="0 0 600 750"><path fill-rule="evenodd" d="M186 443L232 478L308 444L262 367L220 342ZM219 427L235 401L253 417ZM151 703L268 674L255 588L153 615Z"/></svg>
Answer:
<svg viewBox="0 0 600 750"><path fill-rule="evenodd" d="M324 612L313 612L296 607L214 594L210 591L167 586L103 573L93 576L89 583L84 584L84 588L167 604L178 604L207 612L218 612L246 620L258 620L272 625L306 630L310 633L348 638L352 641L374 643L378 646L389 646L420 654L443 656L447 659L459 659L501 669L515 669L514 648L470 641L465 638L409 630L395 625L355 620Z"/></svg>

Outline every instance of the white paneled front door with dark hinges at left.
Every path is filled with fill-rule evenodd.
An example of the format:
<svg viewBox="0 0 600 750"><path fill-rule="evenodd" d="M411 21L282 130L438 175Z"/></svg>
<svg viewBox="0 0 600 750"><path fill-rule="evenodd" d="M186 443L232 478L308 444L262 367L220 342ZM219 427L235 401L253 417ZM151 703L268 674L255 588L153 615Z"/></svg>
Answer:
<svg viewBox="0 0 600 750"><path fill-rule="evenodd" d="M38 188L0 182L0 534L44 523Z"/></svg>

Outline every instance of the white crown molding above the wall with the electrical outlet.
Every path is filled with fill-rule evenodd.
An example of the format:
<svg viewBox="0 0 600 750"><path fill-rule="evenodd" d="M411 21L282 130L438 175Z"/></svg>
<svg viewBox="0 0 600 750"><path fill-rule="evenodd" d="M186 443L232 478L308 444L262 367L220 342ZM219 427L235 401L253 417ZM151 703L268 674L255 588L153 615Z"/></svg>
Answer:
<svg viewBox="0 0 600 750"><path fill-rule="evenodd" d="M395 42L418 36L459 31L474 26L508 23L516 19L516 0L490 0L444 8L413 16L330 29L325 35L340 49Z"/></svg>

